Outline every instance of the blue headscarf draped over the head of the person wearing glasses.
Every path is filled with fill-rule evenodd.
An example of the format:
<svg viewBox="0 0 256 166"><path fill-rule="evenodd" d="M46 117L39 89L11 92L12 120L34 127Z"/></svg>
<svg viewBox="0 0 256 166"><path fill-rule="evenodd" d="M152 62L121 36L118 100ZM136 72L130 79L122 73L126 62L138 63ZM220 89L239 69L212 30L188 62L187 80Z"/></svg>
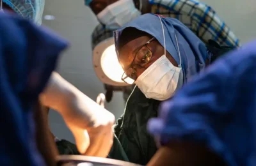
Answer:
<svg viewBox="0 0 256 166"><path fill-rule="evenodd" d="M209 58L205 44L184 24L177 19L161 17L164 26L166 50L179 64L179 54L175 34L179 43L184 82L205 68L205 61ZM154 36L164 47L163 30L158 15L148 13L132 20L114 32L116 54L118 55L118 40L122 31L127 27L134 27Z"/></svg>

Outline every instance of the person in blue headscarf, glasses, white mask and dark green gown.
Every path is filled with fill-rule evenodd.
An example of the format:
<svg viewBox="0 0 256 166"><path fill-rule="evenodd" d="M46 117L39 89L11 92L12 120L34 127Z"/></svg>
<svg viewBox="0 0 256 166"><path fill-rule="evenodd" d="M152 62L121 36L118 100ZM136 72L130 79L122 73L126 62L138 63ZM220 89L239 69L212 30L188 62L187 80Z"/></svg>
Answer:
<svg viewBox="0 0 256 166"><path fill-rule="evenodd" d="M157 151L147 132L148 119L157 116L159 103L204 72L216 55L179 20L152 13L125 24L114 36L116 54L125 71L122 80L136 84L115 134L129 161L145 165ZM113 152L115 148L111 158L118 154Z"/></svg>

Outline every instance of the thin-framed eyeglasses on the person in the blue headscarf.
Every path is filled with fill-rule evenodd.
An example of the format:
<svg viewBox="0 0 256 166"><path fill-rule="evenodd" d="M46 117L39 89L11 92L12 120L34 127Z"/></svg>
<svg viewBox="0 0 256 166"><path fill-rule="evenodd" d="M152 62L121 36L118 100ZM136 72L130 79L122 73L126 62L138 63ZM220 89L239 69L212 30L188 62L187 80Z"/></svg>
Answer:
<svg viewBox="0 0 256 166"><path fill-rule="evenodd" d="M147 43L145 43L144 45L142 45L141 48L140 48L140 50L141 50L141 49L143 49L143 47L145 47L145 48L150 52L151 56L150 56L148 62L149 62L150 59L152 58L152 51L151 51L150 49L148 49L147 45L148 45L151 41L153 41L153 40L155 40L155 39L156 39L155 37L151 38L150 40L147 41ZM124 73L122 74L122 78L121 78L121 79L122 79L122 81L124 81L126 84L129 84L129 83L126 82L125 79L127 79L127 78L132 79L131 77L129 77L129 76L126 75L127 70L129 70L129 69L131 68L132 71L133 71L132 74L133 74L133 73L136 73L136 74L137 74L136 69L134 68L134 64L133 64L133 63L134 63L134 60L136 59L136 57L138 56L138 53L140 52L140 50L138 50L138 52L136 52L136 55L135 55L134 58L132 59L132 63L130 64L129 68L127 68L127 69L124 71ZM146 55L145 55L145 56L146 56ZM148 62L145 63L145 64L148 64ZM124 77L124 75L126 75L126 76ZM138 77L136 77L136 79L138 79ZM135 80L132 79L132 80L134 80L134 82L135 82L136 79L135 79ZM134 82L133 82L132 84L134 84ZM131 84L131 85L132 85L132 84Z"/></svg>

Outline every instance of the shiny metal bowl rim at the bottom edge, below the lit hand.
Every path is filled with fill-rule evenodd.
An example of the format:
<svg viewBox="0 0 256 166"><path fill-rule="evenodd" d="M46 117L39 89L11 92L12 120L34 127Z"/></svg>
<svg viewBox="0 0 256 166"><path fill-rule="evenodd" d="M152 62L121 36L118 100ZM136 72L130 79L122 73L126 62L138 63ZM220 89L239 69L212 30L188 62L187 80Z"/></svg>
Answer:
<svg viewBox="0 0 256 166"><path fill-rule="evenodd" d="M123 162L109 158L99 158L79 155L60 155L58 165L63 166L140 166L135 163Z"/></svg>

